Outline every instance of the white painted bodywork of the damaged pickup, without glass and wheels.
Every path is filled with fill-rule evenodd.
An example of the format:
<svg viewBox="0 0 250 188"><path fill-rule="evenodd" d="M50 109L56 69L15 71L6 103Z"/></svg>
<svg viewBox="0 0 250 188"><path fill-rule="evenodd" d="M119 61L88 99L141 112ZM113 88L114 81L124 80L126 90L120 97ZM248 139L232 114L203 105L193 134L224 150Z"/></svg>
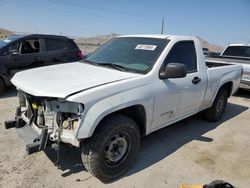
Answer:
<svg viewBox="0 0 250 188"><path fill-rule="evenodd" d="M66 98L68 101L84 104L83 118L75 139L91 137L98 123L106 115L133 105L142 105L145 108L146 134L149 134L209 108L224 83L233 83L232 93L239 86L241 66L229 65L208 69L199 41L195 37L129 37L170 40L152 70L146 75L72 63L18 73L12 82L16 87L35 96L65 98L71 93L83 90ZM184 40L192 40L195 43L198 71L188 74L185 78L160 80L159 70L165 57L176 42ZM201 82L196 85L191 82L195 76L201 78ZM34 79L28 80L29 78Z"/></svg>

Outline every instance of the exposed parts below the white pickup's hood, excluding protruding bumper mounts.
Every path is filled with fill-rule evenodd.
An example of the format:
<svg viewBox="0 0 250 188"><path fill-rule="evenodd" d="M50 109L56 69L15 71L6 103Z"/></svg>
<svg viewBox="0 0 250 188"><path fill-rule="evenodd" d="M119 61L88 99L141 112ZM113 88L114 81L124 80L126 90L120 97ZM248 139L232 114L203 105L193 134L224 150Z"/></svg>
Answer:
<svg viewBox="0 0 250 188"><path fill-rule="evenodd" d="M31 96L19 90L19 115L38 134L48 129L51 141L70 143L79 146L75 138L82 119L84 105L65 99Z"/></svg>

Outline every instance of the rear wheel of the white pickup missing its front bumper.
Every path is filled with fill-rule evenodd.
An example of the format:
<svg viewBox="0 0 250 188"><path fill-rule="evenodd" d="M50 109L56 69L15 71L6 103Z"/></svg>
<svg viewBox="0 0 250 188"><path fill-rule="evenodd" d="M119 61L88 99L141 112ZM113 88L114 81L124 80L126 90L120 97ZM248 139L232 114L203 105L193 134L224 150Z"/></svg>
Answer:
<svg viewBox="0 0 250 188"><path fill-rule="evenodd" d="M227 106L227 99L227 90L221 88L214 99L213 105L204 111L204 117L211 122L220 120Z"/></svg>

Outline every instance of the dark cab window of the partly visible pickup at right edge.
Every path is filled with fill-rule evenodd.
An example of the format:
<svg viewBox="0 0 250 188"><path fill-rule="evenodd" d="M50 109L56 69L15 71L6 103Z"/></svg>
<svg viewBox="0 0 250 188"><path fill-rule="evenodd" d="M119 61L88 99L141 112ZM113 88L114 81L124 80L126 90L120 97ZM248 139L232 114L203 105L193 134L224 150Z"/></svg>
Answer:
<svg viewBox="0 0 250 188"><path fill-rule="evenodd" d="M250 46L229 46L222 56L250 58Z"/></svg>

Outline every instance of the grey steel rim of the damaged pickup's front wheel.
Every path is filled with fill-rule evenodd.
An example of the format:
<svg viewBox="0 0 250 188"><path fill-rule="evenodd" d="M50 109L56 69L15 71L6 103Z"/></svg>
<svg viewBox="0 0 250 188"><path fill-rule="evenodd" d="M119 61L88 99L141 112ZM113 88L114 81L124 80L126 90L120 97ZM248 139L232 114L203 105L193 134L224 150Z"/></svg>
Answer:
<svg viewBox="0 0 250 188"><path fill-rule="evenodd" d="M128 142L124 134L116 134L111 137L105 147L104 155L109 164L119 162L128 150Z"/></svg>

